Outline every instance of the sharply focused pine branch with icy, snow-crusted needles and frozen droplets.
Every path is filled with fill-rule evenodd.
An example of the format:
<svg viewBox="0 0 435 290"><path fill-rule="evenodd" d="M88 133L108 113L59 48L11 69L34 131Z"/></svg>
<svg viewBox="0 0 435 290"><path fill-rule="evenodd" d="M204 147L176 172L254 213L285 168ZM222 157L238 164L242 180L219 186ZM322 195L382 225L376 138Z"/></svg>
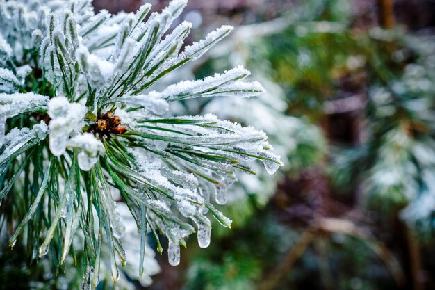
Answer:
<svg viewBox="0 0 435 290"><path fill-rule="evenodd" d="M208 216L231 226L213 200L226 202L235 170L254 174L246 163L255 160L270 174L281 166L263 131L168 113L178 100L260 95L243 67L149 90L232 30L182 49L192 25L168 30L185 6L95 15L90 0L0 1L0 226L13 229L11 246L26 229L32 259L51 251L58 269L80 236L85 289L97 286L105 252L114 282L127 259L115 191L140 232L142 275L148 232L159 250L159 236L169 239L177 265L187 236L210 243Z"/></svg>

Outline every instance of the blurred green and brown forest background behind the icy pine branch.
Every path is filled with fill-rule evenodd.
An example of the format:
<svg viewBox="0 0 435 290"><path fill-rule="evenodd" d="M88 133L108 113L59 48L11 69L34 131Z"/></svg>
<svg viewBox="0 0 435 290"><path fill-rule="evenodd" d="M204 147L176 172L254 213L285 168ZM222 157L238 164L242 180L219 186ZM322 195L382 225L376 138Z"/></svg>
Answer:
<svg viewBox="0 0 435 290"><path fill-rule="evenodd" d="M141 3L95 0L95 7L133 11ZM167 1L151 3L159 10ZM134 287L435 289L434 1L188 5L194 38L222 23L240 27L170 77L245 65L268 93L181 103L175 113L215 113L263 129L286 166L273 177L240 175L222 207L233 229L215 227L206 250L189 241L178 267L158 257L154 283ZM0 275L20 275L8 265L0 262ZM58 287L33 270L28 281L35 280Z"/></svg>

